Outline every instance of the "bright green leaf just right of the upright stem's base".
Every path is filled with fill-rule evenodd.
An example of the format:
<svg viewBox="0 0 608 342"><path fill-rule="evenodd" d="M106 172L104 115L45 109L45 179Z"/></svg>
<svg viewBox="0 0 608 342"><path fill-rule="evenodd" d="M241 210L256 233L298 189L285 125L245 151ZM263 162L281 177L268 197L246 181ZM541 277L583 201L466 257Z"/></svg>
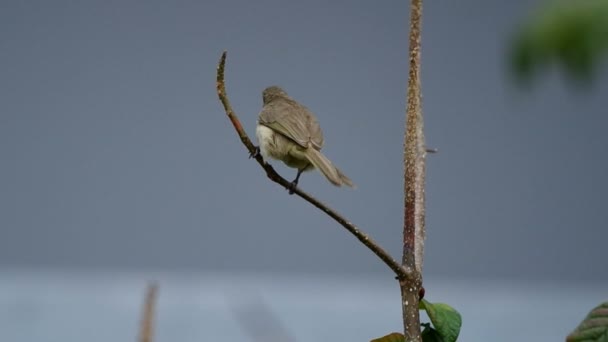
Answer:
<svg viewBox="0 0 608 342"><path fill-rule="evenodd" d="M443 342L456 341L462 326L462 317L458 311L447 304L430 303L425 299L420 301L420 307L429 315L433 327Z"/></svg>

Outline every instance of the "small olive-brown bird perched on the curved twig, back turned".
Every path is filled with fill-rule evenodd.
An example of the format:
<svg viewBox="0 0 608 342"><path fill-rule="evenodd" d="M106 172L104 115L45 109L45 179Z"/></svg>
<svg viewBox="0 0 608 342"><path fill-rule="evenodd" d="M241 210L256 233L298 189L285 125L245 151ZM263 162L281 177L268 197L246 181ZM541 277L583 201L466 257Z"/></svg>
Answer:
<svg viewBox="0 0 608 342"><path fill-rule="evenodd" d="M277 86L264 89L263 107L258 117L256 136L265 159L283 161L298 169L290 193L304 171L314 168L336 186L355 187L353 182L321 153L323 132L314 114Z"/></svg>

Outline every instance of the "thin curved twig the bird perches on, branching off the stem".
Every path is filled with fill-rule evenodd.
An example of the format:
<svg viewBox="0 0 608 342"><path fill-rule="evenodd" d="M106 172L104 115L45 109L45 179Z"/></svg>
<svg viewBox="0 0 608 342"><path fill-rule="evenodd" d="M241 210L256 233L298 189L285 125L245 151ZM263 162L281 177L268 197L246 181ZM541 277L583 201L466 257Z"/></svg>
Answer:
<svg viewBox="0 0 608 342"><path fill-rule="evenodd" d="M240 120L236 116L232 106L230 105L230 101L228 100L228 95L226 94L226 87L224 84L224 66L226 64L226 51L222 53L222 57L220 58L220 62L217 66L217 94L224 106L226 111L226 115L232 122L236 133L238 134L241 142L249 153L254 156L255 160L260 164L260 166L266 171L266 176L273 182L283 186L285 189L290 189L291 182L281 177L274 168L264 161L264 158L259 153L256 152L255 145L249 139L249 136L243 129L243 125L241 125ZM300 190L299 188L294 189L294 193L301 198L303 198L308 203L313 206L321 209L331 218L333 218L336 222L338 222L342 227L346 228L351 234L353 234L359 241L361 241L367 248L369 248L374 254L376 254L384 263L391 269L399 279L405 279L411 277L413 274L413 268L410 266L402 266L400 265L393 257L388 254L380 245L378 245L369 235L362 232L357 226L349 222L342 215L338 214L335 210L331 209L327 205L323 204L321 201L307 194L306 192Z"/></svg>

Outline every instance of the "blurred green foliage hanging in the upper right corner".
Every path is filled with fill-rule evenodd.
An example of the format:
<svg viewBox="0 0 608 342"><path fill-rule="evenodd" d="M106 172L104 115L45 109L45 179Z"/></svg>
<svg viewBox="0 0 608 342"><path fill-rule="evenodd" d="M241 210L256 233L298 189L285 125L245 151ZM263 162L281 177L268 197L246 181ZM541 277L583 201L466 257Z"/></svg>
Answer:
<svg viewBox="0 0 608 342"><path fill-rule="evenodd" d="M553 1L515 35L510 63L521 81L552 64L574 80L589 81L607 51L608 1Z"/></svg>

